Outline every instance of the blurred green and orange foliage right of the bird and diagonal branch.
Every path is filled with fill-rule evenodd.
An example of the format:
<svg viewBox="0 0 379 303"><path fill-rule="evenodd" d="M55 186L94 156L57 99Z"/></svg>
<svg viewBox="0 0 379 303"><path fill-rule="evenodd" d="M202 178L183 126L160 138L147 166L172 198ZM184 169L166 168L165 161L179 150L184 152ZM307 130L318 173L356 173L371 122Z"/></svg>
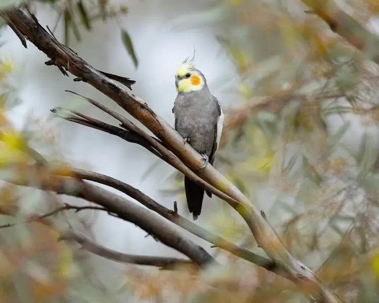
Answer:
<svg viewBox="0 0 379 303"><path fill-rule="evenodd" d="M377 1L343 3L357 21L379 28ZM216 167L328 285L347 301L375 302L379 68L306 10L295 0L229 0L176 24L216 24L238 70L242 103L224 109ZM233 227L214 224L212 218L227 222L233 213L225 209L223 216L208 221L261 252L240 220Z"/></svg>

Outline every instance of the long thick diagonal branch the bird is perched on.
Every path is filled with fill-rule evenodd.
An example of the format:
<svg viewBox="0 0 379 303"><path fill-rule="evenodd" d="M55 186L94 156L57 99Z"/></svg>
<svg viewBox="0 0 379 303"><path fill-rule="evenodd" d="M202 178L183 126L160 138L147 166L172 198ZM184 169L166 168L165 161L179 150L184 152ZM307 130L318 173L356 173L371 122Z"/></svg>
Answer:
<svg viewBox="0 0 379 303"><path fill-rule="evenodd" d="M6 11L5 14L19 32L26 36L29 41L31 41L44 54L52 59L50 61L52 64L60 67L61 71L64 67L71 74L97 88L99 91L113 99L120 107L122 107L140 123L145 125L154 135L157 136L158 139L164 143L165 146L169 148L167 149L166 156L170 158L172 163L175 162L177 165L185 163L189 168L197 173L197 176L204 181L206 186L212 187L212 190L210 190L211 192L215 193L215 191L218 191L218 194L216 195L219 197L220 192L223 193L224 197L222 198L227 201L227 203L233 207L246 221L258 245L265 250L266 254L273 261L285 266L291 274L293 280L296 281L299 286L307 286L306 288L320 302L329 303L341 301L341 299L324 283L322 283L322 281L320 281L320 279L309 268L307 268L291 254L287 247L285 247L277 238L275 232L267 224L264 218L262 218L260 212L252 206L249 199L238 188L236 188L228 179L226 179L211 165L207 165L204 169L199 169L202 165L202 157L189 144L183 144L183 138L166 121L154 113L142 99L132 93L129 93L129 91L114 83L104 74L99 73L98 70L78 57L78 55L72 52L71 49L57 41L57 39L55 39L46 30L44 30L42 26L40 26L34 16L29 18L17 8ZM128 128L128 125L125 126ZM137 130L140 129L137 128ZM158 141L154 141L162 146ZM150 143L159 151L160 154L162 154L163 148L158 149L159 146L157 147L153 145L153 142ZM175 154L176 158L170 155L171 151L171 154ZM162 156L164 155L162 154ZM179 161L177 162L177 160ZM192 170L189 171L192 172ZM184 173L184 170L180 171ZM185 175L191 179L194 178L194 176L187 171L185 172ZM207 190L208 187L206 187ZM89 194L86 190L83 190L82 194L84 193L86 194L85 198L88 200L96 200L95 203L103 206L108 204L102 201L102 198L106 198L106 195L104 195L102 189L98 187L90 188ZM94 197L93 194L97 194L98 196ZM120 205L117 205L116 207L115 205L112 205L112 207L116 208L117 211L120 210L118 208L119 206ZM113 212L114 209L111 209L111 211ZM130 218L129 216L128 219L132 220L133 218ZM148 224L149 222L144 223ZM161 223L162 226L166 224L165 221L162 221ZM153 229L151 224L144 227L150 231ZM168 243L167 239L164 237L162 240ZM172 245L172 243L170 244ZM186 244L186 255L190 259L196 263L201 263L202 265L209 263L210 256L207 257L204 254L202 255L199 251L199 248L201 247L195 248L188 242L186 242ZM184 251L183 247L179 248L179 251ZM203 258L199 259L201 255Z"/></svg>

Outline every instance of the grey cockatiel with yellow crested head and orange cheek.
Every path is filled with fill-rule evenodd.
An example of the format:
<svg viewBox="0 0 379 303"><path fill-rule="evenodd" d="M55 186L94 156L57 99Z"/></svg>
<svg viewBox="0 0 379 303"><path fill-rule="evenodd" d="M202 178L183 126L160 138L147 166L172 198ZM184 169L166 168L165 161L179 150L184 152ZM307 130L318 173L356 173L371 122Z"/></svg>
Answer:
<svg viewBox="0 0 379 303"><path fill-rule="evenodd" d="M195 55L194 55L195 57ZM175 116L175 130L201 154L206 167L213 164L220 142L224 114L218 100L209 91L207 81L193 64L194 57L182 62L175 73L178 92L172 112ZM188 210L194 220L201 213L204 188L184 177L185 196ZM207 191L211 197L211 193Z"/></svg>

